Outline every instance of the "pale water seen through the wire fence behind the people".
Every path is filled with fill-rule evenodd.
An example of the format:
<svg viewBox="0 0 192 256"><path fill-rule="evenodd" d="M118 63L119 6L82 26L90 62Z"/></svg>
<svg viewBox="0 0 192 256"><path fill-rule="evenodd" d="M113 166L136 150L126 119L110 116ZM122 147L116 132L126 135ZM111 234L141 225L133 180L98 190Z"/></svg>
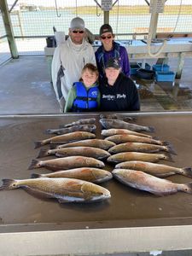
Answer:
<svg viewBox="0 0 192 256"><path fill-rule="evenodd" d="M69 10L60 10L58 17L55 10L42 10L32 12L20 12L20 22L18 15L11 15L15 36L21 36L21 28L24 36L47 36L53 34L53 26L57 31L68 32L70 20L75 14ZM98 34L103 23L103 15L81 15L86 27L92 33ZM177 22L178 19L178 22ZM148 32L150 15L111 15L110 24L114 33L135 33ZM21 24L21 28L19 26ZM168 27L169 32L191 32L192 15L160 15L158 28Z"/></svg>

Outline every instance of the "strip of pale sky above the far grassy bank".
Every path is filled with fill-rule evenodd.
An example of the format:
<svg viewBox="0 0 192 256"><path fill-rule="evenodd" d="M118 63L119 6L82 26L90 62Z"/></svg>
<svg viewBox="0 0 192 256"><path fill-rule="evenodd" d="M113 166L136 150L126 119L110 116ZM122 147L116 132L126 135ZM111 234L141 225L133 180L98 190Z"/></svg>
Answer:
<svg viewBox="0 0 192 256"><path fill-rule="evenodd" d="M9 4L13 4L15 0L7 0ZM101 0L97 1L101 4ZM150 0L148 0L150 2ZM35 4L37 6L55 6L55 0L19 0L18 3L28 3L28 4ZM71 7L76 6L76 0L56 0L58 7ZM114 0L113 0L114 3ZM180 5L182 4L192 4L192 0L167 0L166 4L170 5ZM84 5L93 5L96 6L94 0L77 0L78 6ZM119 0L119 5L138 5L138 4L146 4L144 0Z"/></svg>

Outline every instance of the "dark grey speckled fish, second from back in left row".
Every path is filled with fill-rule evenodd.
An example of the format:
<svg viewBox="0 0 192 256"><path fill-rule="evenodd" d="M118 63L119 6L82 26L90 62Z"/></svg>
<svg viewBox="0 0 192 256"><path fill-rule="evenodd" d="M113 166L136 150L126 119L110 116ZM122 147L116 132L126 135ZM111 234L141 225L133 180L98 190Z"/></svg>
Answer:
<svg viewBox="0 0 192 256"><path fill-rule="evenodd" d="M96 125L74 125L68 128L61 128L61 129L47 129L45 134L66 134L73 131L88 131L95 133L96 132Z"/></svg>

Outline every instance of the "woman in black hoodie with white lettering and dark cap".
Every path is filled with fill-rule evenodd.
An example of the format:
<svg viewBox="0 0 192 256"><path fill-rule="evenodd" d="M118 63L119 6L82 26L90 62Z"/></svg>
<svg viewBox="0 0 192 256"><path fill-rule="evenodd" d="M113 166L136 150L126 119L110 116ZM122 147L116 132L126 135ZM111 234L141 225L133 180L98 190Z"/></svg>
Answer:
<svg viewBox="0 0 192 256"><path fill-rule="evenodd" d="M139 96L136 84L121 73L118 59L106 63L106 79L100 84L101 111L138 111Z"/></svg>

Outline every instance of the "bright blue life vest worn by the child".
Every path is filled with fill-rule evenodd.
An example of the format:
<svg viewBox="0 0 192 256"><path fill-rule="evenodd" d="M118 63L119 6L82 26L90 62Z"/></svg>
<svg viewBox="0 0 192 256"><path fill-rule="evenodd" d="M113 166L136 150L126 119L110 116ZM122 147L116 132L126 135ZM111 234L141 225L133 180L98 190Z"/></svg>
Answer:
<svg viewBox="0 0 192 256"><path fill-rule="evenodd" d="M73 112L94 111L98 107L96 102L99 90L98 86L86 90L82 82L76 82L77 97L73 101Z"/></svg>

